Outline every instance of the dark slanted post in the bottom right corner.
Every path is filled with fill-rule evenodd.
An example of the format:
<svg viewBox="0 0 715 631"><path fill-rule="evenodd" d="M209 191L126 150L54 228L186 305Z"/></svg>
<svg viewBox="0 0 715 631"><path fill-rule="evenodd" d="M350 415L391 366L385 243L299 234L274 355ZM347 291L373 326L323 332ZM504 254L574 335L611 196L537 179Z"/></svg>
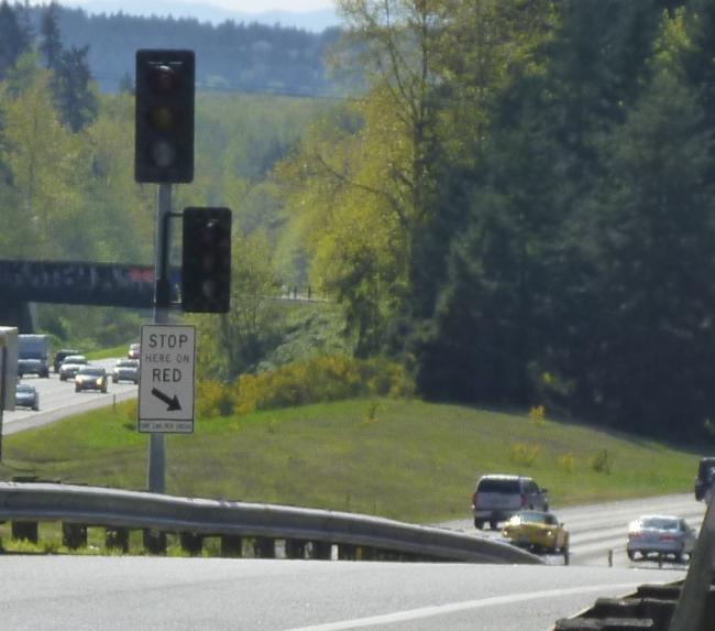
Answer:
<svg viewBox="0 0 715 631"><path fill-rule="evenodd" d="M705 608L713 580L715 555L715 492L711 492L705 519L690 559L669 631L707 631ZM712 623L712 620L710 621ZM712 629L712 627L711 627Z"/></svg>

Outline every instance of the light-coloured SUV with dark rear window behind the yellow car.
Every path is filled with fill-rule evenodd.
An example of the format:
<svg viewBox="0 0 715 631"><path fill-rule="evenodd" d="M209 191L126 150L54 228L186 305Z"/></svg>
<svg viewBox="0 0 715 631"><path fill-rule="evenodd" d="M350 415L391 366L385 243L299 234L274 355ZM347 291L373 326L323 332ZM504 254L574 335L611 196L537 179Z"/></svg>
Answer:
<svg viewBox="0 0 715 631"><path fill-rule="evenodd" d="M499 522L525 510L548 511L548 489L541 489L524 476L482 476L472 497L474 526L483 529L490 522L496 530Z"/></svg>

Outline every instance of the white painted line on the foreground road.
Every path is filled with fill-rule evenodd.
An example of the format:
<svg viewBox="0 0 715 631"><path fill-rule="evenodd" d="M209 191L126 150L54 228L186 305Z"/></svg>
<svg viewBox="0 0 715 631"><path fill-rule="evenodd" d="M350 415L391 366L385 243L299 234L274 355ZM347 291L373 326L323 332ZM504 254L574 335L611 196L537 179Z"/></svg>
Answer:
<svg viewBox="0 0 715 631"><path fill-rule="evenodd" d="M566 589L548 589L544 591L531 591L530 594L513 594L510 596L493 596L482 598L481 600L465 600L463 602L452 602L451 605L438 605L435 607L420 607L419 609L409 609L407 611L397 611L395 613L385 613L383 616L371 616L369 618L355 618L354 620L342 620L340 622L327 622L326 624L314 624L311 627L296 627L286 631L343 631L344 629L360 629L372 627L374 624L391 624L396 622L406 622L408 620L418 620L420 618L430 618L432 616L444 616L455 611L466 611L468 609L482 609L484 607L495 607L497 605L510 605L513 602L524 602L525 600L538 600L540 598L554 598L558 596L569 596L572 594L590 594L592 591L603 591L604 589L631 589L637 583L620 583L617 585L587 585L583 587L570 587Z"/></svg>

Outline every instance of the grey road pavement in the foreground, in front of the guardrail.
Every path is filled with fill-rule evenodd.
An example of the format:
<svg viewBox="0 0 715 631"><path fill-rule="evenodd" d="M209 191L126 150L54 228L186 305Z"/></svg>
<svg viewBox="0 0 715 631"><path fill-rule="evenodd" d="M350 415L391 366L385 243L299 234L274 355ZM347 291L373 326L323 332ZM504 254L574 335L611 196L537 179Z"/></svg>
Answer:
<svg viewBox="0 0 715 631"><path fill-rule="evenodd" d="M280 559L2 556L2 627L547 631L682 570Z"/></svg>

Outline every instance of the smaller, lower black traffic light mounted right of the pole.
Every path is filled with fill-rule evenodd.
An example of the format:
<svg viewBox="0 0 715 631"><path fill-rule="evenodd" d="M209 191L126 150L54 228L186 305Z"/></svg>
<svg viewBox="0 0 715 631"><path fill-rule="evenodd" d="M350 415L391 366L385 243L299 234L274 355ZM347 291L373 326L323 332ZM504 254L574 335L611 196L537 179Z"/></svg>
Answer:
<svg viewBox="0 0 715 631"><path fill-rule="evenodd" d="M182 308L227 313L231 303L231 210L185 208Z"/></svg>

